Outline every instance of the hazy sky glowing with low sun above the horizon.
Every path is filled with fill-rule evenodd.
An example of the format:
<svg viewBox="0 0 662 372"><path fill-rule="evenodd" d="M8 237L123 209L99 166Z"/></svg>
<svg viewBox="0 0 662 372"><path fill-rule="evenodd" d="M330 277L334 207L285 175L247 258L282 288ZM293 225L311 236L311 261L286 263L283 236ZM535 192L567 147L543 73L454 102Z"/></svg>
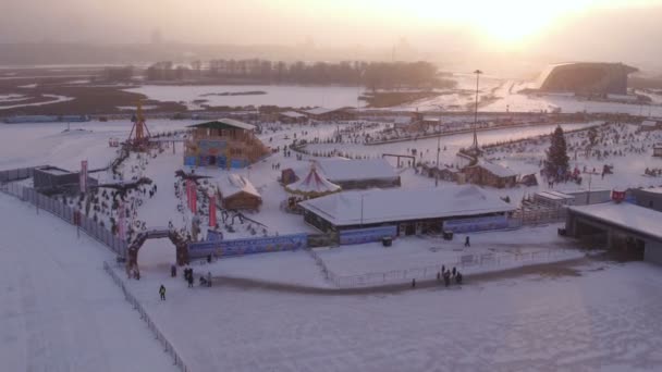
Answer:
<svg viewBox="0 0 662 372"><path fill-rule="evenodd" d="M0 0L0 42L413 48L662 60L662 0ZM513 54L518 55L518 54Z"/></svg>

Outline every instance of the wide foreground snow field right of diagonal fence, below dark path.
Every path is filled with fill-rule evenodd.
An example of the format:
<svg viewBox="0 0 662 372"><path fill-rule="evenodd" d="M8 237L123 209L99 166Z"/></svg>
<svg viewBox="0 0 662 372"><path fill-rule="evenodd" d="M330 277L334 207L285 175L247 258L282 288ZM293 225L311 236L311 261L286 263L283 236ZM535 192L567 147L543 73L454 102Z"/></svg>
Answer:
<svg viewBox="0 0 662 372"><path fill-rule="evenodd" d="M303 262L291 263L261 262L283 272ZM654 371L662 363L662 272L646 263L373 294L225 277L191 289L181 277L154 275L130 287L196 371ZM161 282L167 303L157 298Z"/></svg>

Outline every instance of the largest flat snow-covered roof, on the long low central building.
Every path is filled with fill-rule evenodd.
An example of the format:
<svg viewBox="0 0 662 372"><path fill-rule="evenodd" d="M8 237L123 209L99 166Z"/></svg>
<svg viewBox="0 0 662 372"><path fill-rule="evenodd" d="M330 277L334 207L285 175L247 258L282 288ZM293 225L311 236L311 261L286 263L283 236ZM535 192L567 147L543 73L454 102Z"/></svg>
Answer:
<svg viewBox="0 0 662 372"><path fill-rule="evenodd" d="M299 206L335 226L468 216L515 210L515 207L495 195L487 194L473 185L344 191L306 200Z"/></svg>

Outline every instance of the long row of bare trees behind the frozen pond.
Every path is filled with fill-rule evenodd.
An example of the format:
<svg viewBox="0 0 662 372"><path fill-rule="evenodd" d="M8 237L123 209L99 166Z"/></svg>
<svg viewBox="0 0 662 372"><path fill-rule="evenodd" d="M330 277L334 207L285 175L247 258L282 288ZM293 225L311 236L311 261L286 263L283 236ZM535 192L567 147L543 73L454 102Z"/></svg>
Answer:
<svg viewBox="0 0 662 372"><path fill-rule="evenodd" d="M429 62L316 62L285 63L268 60L211 60L188 65L157 62L146 72L147 80L234 78L260 83L361 85L369 89L453 87Z"/></svg>

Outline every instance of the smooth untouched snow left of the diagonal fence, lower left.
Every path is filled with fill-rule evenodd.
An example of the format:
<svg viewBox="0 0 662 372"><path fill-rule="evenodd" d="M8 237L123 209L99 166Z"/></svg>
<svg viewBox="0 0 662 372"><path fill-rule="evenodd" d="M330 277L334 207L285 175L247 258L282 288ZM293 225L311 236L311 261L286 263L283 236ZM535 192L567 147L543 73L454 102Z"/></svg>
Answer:
<svg viewBox="0 0 662 372"><path fill-rule="evenodd" d="M3 371L175 371L103 272L107 248L4 194L0 210Z"/></svg>

